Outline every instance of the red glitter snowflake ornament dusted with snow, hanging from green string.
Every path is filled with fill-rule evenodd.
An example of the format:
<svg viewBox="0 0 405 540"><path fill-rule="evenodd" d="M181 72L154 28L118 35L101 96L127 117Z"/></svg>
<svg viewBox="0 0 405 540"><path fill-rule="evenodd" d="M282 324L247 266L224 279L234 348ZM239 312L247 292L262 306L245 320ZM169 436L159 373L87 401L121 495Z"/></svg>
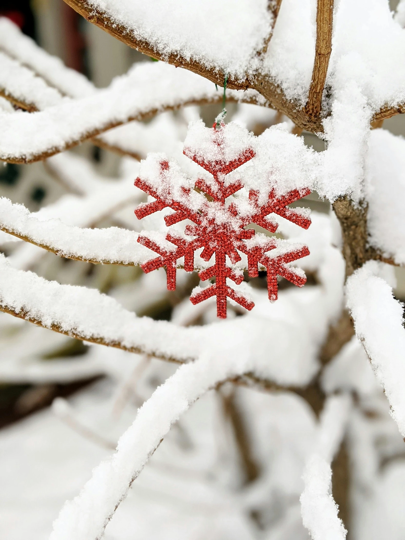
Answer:
<svg viewBox="0 0 405 540"><path fill-rule="evenodd" d="M232 281L240 285L244 280L246 265L252 278L259 275L259 269L266 270L270 301L277 299L278 275L299 287L306 282L300 268L288 265L309 255L306 246L247 228L256 224L274 233L278 224L269 217L272 213L303 228L311 224L305 209L288 208L311 190L279 195L271 188L263 195L261 190L247 191L235 176L233 171L255 157L254 139L238 124L224 124L221 116L212 129L200 120L189 127L183 151L202 168L200 178L188 178L177 162L168 161L164 154L149 154L135 180L135 185L154 199L135 210L138 219L164 208L173 211L164 218L170 232L143 231L139 235L140 244L159 254L142 265L144 272L165 267L167 288L173 291L176 268L183 266L187 272L200 269L201 281L214 282L208 282L205 288L195 287L190 300L197 304L216 296L217 315L221 318L226 317L227 298L248 310L254 306L246 294L231 286ZM188 223L182 231L177 224L185 220ZM195 252L201 262L214 256L214 264L201 270L202 264L195 264Z"/></svg>

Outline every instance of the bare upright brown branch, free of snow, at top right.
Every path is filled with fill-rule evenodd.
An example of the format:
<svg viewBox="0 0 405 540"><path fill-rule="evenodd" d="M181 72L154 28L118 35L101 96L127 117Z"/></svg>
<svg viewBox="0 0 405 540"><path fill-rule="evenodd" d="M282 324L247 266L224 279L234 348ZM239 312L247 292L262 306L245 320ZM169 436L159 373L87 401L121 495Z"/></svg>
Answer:
<svg viewBox="0 0 405 540"><path fill-rule="evenodd" d="M315 60L309 87L306 113L311 119L319 118L322 92L328 72L329 57L332 52L333 0L318 0L316 7Z"/></svg>

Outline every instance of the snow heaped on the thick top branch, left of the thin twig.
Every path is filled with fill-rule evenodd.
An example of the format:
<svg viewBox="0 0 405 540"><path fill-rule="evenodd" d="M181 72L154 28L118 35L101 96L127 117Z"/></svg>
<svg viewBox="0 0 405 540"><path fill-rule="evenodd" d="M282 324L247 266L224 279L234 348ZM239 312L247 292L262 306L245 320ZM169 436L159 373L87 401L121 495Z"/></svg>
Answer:
<svg viewBox="0 0 405 540"><path fill-rule="evenodd" d="M123 25L164 58L181 56L244 79L271 30L267 0L91 0L92 8Z"/></svg>

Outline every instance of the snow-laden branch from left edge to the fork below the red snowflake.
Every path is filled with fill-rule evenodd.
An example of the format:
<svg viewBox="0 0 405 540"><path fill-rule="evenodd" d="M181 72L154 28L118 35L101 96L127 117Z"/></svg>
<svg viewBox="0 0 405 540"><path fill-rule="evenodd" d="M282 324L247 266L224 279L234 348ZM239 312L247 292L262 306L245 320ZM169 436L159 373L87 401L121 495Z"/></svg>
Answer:
<svg viewBox="0 0 405 540"><path fill-rule="evenodd" d="M1 311L73 338L165 360L184 362L197 355L194 340L186 337L190 329L139 319L95 289L59 285L16 270L4 255L0 274Z"/></svg>

